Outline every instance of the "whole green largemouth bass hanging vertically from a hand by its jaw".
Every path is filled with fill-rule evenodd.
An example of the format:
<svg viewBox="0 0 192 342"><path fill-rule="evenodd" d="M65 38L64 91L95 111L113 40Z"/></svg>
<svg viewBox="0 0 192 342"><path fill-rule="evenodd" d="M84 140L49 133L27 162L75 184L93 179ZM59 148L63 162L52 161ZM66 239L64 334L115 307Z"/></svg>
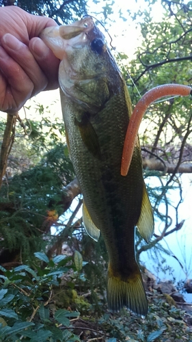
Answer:
<svg viewBox="0 0 192 342"><path fill-rule="evenodd" d="M120 172L132 114L126 83L91 16L47 27L40 38L61 60L58 77L66 142L83 194L85 230L96 241L101 233L107 248L109 311L127 308L145 317L148 301L135 259L135 229L150 241L154 218L138 137L128 174Z"/></svg>

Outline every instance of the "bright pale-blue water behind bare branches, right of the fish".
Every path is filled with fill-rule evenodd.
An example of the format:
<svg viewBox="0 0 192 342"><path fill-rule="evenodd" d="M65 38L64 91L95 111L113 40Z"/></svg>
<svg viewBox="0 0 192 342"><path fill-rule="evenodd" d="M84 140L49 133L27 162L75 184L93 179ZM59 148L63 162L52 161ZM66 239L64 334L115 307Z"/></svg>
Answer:
<svg viewBox="0 0 192 342"><path fill-rule="evenodd" d="M187 278L192 278L192 211L191 211L191 174L182 174L182 196L183 201L179 205L178 209L178 222L184 220L184 224L180 231L176 231L170 235L167 235L162 241L162 246L169 250L169 252L178 259L178 261L167 254L162 254L165 258L165 263L162 267L168 265L172 268L171 272L167 269L166 272L158 267L156 261L152 261L147 252L141 254L141 261L146 265L146 268L157 276L161 280L173 280L175 278L175 284L180 281L184 281ZM150 186L157 185L157 179L154 177L150 179ZM169 215L171 216L173 222L172 226L169 228L171 230L176 224L176 210L174 207L177 206L180 200L180 194L178 189L169 190L169 200L172 203L172 207L169 206ZM163 207L162 207L163 209ZM155 222L155 233L159 235L159 231L162 231L164 224L157 220ZM181 267L182 265L182 267ZM181 292L182 293L182 292ZM187 302L192 303L192 293L182 293L184 299Z"/></svg>

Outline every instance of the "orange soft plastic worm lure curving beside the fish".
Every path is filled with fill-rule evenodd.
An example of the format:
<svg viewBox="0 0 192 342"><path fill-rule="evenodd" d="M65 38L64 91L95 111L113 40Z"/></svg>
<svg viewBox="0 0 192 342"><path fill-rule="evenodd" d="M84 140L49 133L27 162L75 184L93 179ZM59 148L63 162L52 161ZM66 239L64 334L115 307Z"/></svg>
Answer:
<svg viewBox="0 0 192 342"><path fill-rule="evenodd" d="M128 174L139 126L148 107L154 101L165 96L189 96L190 94L192 95L192 88L190 86L184 86L182 84L163 84L152 88L141 97L133 110L133 114L131 115L126 131L121 164L122 176L126 176Z"/></svg>

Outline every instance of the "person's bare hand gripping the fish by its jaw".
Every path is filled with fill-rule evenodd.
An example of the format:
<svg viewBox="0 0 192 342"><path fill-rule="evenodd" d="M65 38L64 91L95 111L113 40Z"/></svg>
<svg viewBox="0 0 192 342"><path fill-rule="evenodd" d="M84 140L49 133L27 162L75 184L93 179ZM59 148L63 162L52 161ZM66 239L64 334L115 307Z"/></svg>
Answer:
<svg viewBox="0 0 192 342"><path fill-rule="evenodd" d="M42 90L56 89L59 60L40 32L57 25L16 6L0 8L0 110L10 114Z"/></svg>

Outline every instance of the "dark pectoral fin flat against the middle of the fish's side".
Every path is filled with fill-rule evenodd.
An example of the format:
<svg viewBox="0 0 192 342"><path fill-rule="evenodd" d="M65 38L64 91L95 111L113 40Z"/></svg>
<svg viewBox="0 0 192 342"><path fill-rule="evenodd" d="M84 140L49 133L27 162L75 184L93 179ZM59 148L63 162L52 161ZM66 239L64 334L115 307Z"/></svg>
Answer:
<svg viewBox="0 0 192 342"><path fill-rule="evenodd" d="M81 138L87 147L87 150L94 155L94 157L100 159L100 146L98 142L98 136L96 131L89 120L90 114L85 113L81 118L81 121L75 119L75 124L79 127Z"/></svg>

